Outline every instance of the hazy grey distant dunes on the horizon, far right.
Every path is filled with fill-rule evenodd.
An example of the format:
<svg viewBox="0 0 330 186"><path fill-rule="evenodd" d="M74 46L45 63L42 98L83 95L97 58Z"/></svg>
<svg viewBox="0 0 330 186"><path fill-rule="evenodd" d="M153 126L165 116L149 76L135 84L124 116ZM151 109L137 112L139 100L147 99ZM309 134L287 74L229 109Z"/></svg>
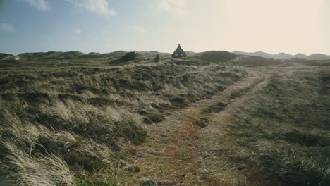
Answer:
<svg viewBox="0 0 330 186"><path fill-rule="evenodd" d="M325 54L312 54L310 56L307 56L305 54L286 54L286 53L279 53L279 54L268 54L263 51L256 51L256 52L244 52L244 51L233 51L234 54L238 55L245 55L245 56L259 56L263 58L274 58L274 59L291 59L291 58L303 58L308 60L326 60L330 59L330 56Z"/></svg>

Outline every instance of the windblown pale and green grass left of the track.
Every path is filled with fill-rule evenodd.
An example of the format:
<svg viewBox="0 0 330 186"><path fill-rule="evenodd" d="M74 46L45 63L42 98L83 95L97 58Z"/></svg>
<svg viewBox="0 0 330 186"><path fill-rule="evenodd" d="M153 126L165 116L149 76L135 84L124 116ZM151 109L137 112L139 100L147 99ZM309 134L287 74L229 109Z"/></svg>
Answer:
<svg viewBox="0 0 330 186"><path fill-rule="evenodd" d="M148 58L0 62L1 184L124 185L147 125L245 75Z"/></svg>

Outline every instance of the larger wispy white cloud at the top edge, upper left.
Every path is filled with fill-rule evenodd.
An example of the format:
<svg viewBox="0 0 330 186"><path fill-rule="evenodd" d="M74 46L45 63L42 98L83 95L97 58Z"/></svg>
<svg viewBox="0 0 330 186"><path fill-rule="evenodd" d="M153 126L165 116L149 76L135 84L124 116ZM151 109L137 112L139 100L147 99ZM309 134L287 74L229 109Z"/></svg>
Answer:
<svg viewBox="0 0 330 186"><path fill-rule="evenodd" d="M84 8L101 16L116 16L116 11L109 5L108 0L66 0L71 4Z"/></svg>

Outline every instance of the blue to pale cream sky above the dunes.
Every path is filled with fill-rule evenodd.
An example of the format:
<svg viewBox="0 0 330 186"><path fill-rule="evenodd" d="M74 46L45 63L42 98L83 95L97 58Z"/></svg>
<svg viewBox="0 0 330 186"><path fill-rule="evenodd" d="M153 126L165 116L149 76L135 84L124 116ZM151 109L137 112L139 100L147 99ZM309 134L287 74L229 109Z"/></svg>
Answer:
<svg viewBox="0 0 330 186"><path fill-rule="evenodd" d="M0 53L330 54L330 0L0 0Z"/></svg>

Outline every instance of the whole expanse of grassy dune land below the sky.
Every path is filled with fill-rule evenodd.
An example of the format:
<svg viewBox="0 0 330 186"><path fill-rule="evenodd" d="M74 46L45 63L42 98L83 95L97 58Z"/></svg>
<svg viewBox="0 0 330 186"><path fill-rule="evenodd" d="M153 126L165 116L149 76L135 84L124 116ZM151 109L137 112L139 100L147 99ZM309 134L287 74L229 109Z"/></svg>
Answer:
<svg viewBox="0 0 330 186"><path fill-rule="evenodd" d="M1 54L0 185L330 184L329 61L123 54ZM166 178L156 147L192 173Z"/></svg>

